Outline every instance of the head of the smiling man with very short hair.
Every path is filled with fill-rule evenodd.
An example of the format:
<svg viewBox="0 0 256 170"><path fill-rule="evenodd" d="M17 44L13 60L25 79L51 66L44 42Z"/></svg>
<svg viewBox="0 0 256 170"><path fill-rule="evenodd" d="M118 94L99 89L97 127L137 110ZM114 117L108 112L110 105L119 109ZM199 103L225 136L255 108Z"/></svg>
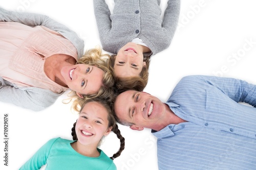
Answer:
<svg viewBox="0 0 256 170"><path fill-rule="evenodd" d="M128 90L119 94L114 108L121 121L133 124L130 126L133 130L160 130L166 118L165 104L145 92Z"/></svg>

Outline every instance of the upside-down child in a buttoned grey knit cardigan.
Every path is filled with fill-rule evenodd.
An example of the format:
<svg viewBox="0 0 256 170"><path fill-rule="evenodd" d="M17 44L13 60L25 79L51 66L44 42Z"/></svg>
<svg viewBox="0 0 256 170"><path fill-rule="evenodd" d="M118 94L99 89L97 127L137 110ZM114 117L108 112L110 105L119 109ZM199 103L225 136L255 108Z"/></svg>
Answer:
<svg viewBox="0 0 256 170"><path fill-rule="evenodd" d="M163 19L159 5L160 0L119 0L115 1L111 14L105 0L94 0L100 41L103 50L116 54L110 66L118 77L120 88L131 88L137 85L136 81L141 81L142 88L145 87L150 56L165 50L172 41L180 0L168 0Z"/></svg>

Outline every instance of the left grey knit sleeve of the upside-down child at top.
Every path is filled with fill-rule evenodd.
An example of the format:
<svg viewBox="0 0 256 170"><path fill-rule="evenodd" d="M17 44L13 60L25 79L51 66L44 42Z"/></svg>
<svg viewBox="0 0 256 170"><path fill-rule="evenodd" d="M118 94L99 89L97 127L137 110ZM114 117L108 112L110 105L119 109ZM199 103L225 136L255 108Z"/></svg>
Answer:
<svg viewBox="0 0 256 170"><path fill-rule="evenodd" d="M93 4L99 38L104 49L105 43L108 42L108 34L112 28L111 13L104 0L94 0Z"/></svg>

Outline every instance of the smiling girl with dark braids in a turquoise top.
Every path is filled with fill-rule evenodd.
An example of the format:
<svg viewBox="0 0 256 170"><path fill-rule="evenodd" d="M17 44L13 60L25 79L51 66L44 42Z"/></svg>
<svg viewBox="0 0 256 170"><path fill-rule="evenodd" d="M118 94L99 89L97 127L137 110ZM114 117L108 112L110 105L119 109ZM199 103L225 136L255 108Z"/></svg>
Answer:
<svg viewBox="0 0 256 170"><path fill-rule="evenodd" d="M113 131L120 139L120 149L111 158L98 149L103 136ZM124 149L124 138L116 125L110 104L94 98L82 104L72 128L73 140L53 138L43 145L22 167L23 169L94 169L114 170L113 159Z"/></svg>

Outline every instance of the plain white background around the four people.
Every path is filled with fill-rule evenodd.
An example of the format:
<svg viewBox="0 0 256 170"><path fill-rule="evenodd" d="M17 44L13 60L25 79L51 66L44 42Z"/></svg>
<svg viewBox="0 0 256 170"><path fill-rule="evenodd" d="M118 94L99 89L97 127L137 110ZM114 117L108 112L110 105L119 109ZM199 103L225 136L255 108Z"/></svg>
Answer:
<svg viewBox="0 0 256 170"><path fill-rule="evenodd" d="M161 3L163 9L166 2ZM0 6L50 16L73 29L84 40L84 50L100 45L93 1L12 0L2 1ZM186 75L233 77L256 84L255 6L254 0L181 0L179 25L172 44L152 57L144 91L165 102ZM0 141L4 140L4 114L9 114L9 162L4 166L4 143L0 142L1 169L18 169L53 137L71 139L77 114L71 112L69 104L62 103L65 98L66 93L40 112L0 103ZM150 130L139 132L119 127L126 143L121 156L114 160L117 168L157 169L156 139ZM106 137L101 147L109 156L118 148L114 134Z"/></svg>

